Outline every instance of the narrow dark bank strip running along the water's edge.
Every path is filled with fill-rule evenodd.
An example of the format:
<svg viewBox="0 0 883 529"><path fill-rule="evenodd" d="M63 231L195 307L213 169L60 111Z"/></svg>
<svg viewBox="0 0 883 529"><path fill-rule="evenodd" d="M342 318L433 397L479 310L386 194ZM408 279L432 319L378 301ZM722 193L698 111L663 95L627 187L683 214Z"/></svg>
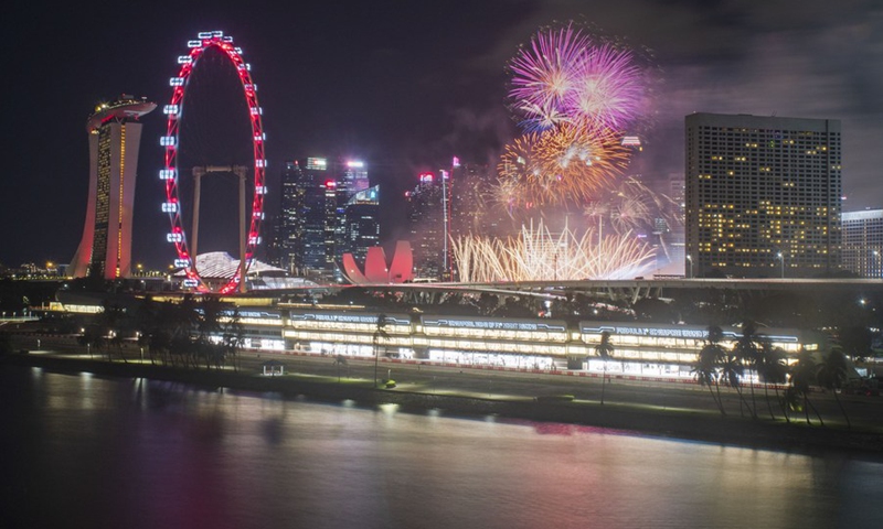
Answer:
<svg viewBox="0 0 883 529"><path fill-rule="evenodd" d="M357 406L398 404L403 412L442 410L451 417L497 415L513 420L558 422L646 434L660 439L701 441L747 449L783 450L810 455L827 452L883 460L883 434L833 427L768 422L740 417L709 415L700 411L638 410L615 402L576 402L565 399L485 399L462 395L438 395L401 389L375 389L352 384L311 381L290 376L264 377L236 371L199 370L107 360L9 354L0 366L40 367L52 373L83 371L123 378L149 378L205 388L231 388L255 392L304 396L322 402L353 400Z"/></svg>

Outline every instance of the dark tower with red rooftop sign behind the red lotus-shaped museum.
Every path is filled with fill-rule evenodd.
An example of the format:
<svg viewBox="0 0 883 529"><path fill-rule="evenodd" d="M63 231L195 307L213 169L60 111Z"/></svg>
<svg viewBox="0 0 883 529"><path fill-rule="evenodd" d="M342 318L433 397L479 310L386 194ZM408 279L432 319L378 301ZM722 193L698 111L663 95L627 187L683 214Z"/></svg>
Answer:
<svg viewBox="0 0 883 529"><path fill-rule="evenodd" d="M421 173L417 186L405 194L416 278L438 280L444 271L445 209L442 176Z"/></svg>

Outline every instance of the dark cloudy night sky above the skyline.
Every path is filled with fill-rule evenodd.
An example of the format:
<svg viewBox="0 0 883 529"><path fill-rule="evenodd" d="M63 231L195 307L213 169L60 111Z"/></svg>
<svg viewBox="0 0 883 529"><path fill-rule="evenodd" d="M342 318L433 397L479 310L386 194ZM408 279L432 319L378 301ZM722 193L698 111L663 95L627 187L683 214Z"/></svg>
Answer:
<svg viewBox="0 0 883 529"><path fill-rule="evenodd" d="M174 258L157 177L161 107L187 41L210 30L232 35L252 64L270 193L285 160L311 154L365 160L390 198L451 155L496 163L518 133L506 108L507 61L541 26L573 19L653 53L661 83L640 160L647 179L682 173L683 117L693 111L831 118L842 120L844 210L883 206L875 0L274 3L6 7L0 262L71 259L88 190L86 118L124 93L159 106L143 119L132 257L150 267ZM386 204L392 241L402 207Z"/></svg>

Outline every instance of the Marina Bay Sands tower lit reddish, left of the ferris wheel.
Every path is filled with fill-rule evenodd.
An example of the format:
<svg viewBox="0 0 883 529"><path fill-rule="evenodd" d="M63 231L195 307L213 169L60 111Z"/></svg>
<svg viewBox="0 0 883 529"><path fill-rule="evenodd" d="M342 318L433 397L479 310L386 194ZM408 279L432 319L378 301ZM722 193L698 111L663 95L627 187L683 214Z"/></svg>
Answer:
<svg viewBox="0 0 883 529"><path fill-rule="evenodd" d="M120 96L99 105L88 121L89 197L83 239L68 273L75 278L126 278L131 273L131 217L141 123L157 105Z"/></svg>

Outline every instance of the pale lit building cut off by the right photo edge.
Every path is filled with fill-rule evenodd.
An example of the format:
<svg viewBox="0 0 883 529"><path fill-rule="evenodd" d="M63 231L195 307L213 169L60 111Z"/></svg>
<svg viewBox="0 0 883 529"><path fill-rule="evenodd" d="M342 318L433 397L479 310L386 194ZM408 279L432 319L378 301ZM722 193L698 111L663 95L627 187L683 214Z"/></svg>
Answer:
<svg viewBox="0 0 883 529"><path fill-rule="evenodd" d="M883 278L883 209L843 212L843 268L861 278Z"/></svg>

